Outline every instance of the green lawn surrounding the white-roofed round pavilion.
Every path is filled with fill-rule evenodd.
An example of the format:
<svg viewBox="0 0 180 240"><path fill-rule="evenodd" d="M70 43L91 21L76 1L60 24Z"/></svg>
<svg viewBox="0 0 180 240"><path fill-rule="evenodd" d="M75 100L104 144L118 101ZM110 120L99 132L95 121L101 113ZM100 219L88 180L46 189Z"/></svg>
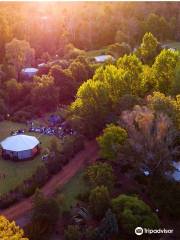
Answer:
<svg viewBox="0 0 180 240"><path fill-rule="evenodd" d="M26 129L26 125L10 121L0 122L0 141L8 137L11 131L18 129ZM42 149L49 146L50 139L52 138L36 133L29 135L34 135L39 138ZM0 156L0 174L5 174L6 176L5 179L0 179L0 195L9 192L21 184L25 179L31 177L37 167L42 164L41 155L38 155L33 160L18 163L10 160L3 160Z"/></svg>

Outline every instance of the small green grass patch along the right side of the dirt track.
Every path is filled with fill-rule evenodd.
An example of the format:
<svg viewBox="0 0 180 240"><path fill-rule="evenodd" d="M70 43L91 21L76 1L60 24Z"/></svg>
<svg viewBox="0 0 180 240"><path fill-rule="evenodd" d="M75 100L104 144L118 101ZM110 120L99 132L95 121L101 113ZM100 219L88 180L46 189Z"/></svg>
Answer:
<svg viewBox="0 0 180 240"><path fill-rule="evenodd" d="M83 171L80 170L58 193L64 196L63 210L69 211L77 203L77 196L84 193L87 186L83 180Z"/></svg>

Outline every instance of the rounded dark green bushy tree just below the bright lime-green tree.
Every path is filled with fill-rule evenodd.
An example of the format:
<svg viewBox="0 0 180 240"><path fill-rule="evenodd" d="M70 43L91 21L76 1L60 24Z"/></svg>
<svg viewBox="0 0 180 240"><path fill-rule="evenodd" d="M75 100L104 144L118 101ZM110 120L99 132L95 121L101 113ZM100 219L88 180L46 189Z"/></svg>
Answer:
<svg viewBox="0 0 180 240"><path fill-rule="evenodd" d="M107 163L93 164L86 169L85 179L93 187L104 185L111 191L114 185L113 169Z"/></svg>

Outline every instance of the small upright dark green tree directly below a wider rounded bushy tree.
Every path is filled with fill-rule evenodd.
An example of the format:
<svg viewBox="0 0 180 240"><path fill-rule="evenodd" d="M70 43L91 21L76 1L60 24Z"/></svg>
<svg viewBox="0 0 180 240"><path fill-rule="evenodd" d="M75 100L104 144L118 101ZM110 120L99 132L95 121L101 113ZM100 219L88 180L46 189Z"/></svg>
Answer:
<svg viewBox="0 0 180 240"><path fill-rule="evenodd" d="M90 209L95 218L102 218L110 206L110 196L107 187L97 186L89 195Z"/></svg>

